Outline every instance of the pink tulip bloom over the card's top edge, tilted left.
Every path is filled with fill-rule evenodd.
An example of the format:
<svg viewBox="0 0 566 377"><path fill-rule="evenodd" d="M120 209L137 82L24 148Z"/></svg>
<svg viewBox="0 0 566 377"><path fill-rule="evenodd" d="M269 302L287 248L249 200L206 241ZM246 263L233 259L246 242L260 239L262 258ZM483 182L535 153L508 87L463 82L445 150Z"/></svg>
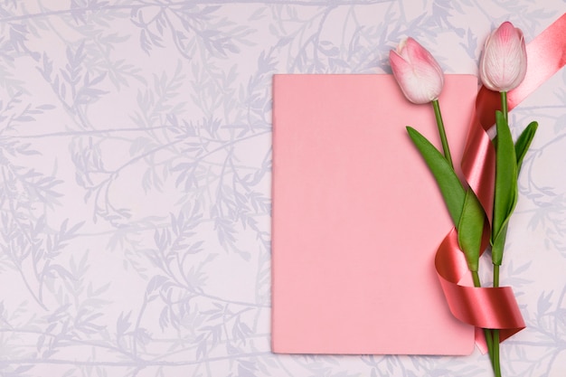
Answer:
<svg viewBox="0 0 566 377"><path fill-rule="evenodd" d="M439 63L419 42L407 38L389 52L395 80L405 97L416 104L439 99L444 74Z"/></svg>

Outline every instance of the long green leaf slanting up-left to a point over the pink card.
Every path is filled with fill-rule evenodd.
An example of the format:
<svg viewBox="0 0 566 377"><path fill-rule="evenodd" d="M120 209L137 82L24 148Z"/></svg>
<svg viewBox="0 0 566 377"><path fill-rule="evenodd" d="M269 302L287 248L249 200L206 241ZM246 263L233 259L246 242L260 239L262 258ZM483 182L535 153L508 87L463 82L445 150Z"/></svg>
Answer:
<svg viewBox="0 0 566 377"><path fill-rule="evenodd" d="M429 165L430 172L439 184L440 193L444 197L444 202L448 207L448 212L455 225L458 225L462 214L462 208L466 198L466 191L458 179L458 175L442 156L439 150L430 144L429 140L420 135L419 131L413 127L407 127L410 139L417 146L420 155Z"/></svg>

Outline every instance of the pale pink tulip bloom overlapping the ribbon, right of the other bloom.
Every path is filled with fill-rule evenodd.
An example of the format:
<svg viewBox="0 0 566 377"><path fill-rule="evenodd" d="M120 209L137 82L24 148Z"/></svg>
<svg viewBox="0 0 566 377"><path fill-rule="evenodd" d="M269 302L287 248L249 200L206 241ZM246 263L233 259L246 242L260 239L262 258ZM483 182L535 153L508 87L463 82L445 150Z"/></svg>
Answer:
<svg viewBox="0 0 566 377"><path fill-rule="evenodd" d="M479 62L479 77L489 90L509 91L523 82L526 71L523 32L505 22L487 37Z"/></svg>

